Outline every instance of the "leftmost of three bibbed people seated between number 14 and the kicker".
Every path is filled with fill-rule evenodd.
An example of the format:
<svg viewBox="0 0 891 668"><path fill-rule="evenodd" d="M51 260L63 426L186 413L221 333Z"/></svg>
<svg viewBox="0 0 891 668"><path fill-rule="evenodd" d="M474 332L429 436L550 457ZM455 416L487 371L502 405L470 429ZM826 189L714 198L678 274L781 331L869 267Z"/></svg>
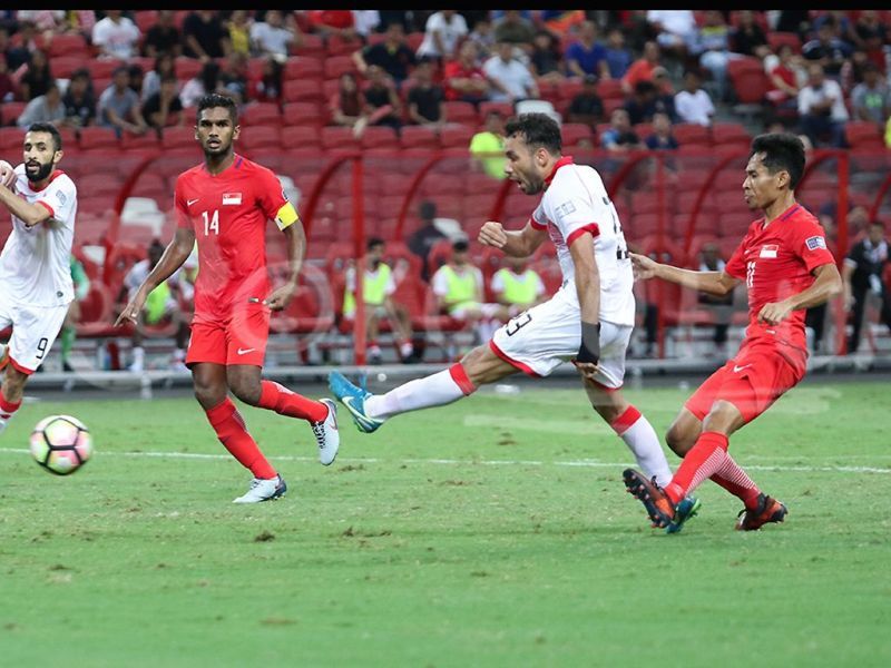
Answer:
<svg viewBox="0 0 891 668"><path fill-rule="evenodd" d="M362 294L365 303L369 364L381 363L379 340L382 321L390 323L393 337L399 346L401 361L404 364L411 364L417 362L414 345L412 344L411 316L404 305L393 299L396 284L392 268L383 261L384 247L384 240L378 237L369 238L365 245L365 273L362 276ZM354 322L356 314L354 266L350 266L346 269L345 278L343 317Z"/></svg>

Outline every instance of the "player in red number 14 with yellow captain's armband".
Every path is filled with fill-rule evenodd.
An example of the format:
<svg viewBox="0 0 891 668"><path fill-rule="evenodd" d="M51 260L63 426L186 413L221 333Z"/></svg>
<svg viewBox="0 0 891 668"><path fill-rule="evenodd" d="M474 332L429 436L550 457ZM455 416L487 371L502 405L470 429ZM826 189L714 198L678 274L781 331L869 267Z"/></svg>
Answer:
<svg viewBox="0 0 891 668"><path fill-rule="evenodd" d="M323 464L334 461L340 436L333 401L306 399L261 376L270 312L285 308L294 296L306 238L275 174L235 153L239 129L231 98L212 94L200 99L195 138L204 163L177 178L176 234L116 325L136 322L148 294L186 262L197 239L199 268L186 365L217 438L254 474L247 493L235 502L255 503L282 497L287 487L247 432L229 390L252 406L309 421ZM266 269L270 219L284 233L288 248L288 278L275 289Z"/></svg>

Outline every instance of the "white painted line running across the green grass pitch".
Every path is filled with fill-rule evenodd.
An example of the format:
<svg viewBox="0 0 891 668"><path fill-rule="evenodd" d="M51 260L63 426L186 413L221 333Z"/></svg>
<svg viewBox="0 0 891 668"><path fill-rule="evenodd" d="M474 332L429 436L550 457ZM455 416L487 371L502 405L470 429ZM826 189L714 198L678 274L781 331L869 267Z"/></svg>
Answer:
<svg viewBox="0 0 891 668"><path fill-rule="evenodd" d="M25 448L0 448L0 454L30 454ZM124 458L149 458L149 459L180 459L180 460L232 460L231 454L224 453L202 453L202 452L102 452L99 456L124 456ZM293 456L293 455L272 455L268 459L287 462L317 462L314 456ZM575 461L554 461L546 462L540 460L473 460L473 459L378 459L378 458L340 458L339 463L344 464L437 464L437 465L462 465L469 464L483 466L574 466L588 469L619 469L636 465L634 462L599 462L595 460ZM771 465L745 465L748 471L777 471L777 472L800 472L800 473L891 473L891 469L880 469L875 466L786 466L777 464Z"/></svg>

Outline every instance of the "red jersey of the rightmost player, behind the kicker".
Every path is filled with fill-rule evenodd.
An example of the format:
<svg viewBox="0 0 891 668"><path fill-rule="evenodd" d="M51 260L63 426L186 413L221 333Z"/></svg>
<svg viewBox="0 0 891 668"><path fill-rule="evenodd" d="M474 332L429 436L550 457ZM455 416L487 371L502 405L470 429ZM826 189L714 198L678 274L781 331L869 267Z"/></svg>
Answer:
<svg viewBox="0 0 891 668"><path fill-rule="evenodd" d="M758 323L762 306L781 302L807 289L814 282L811 272L835 264L826 248L825 233L813 214L800 204L791 206L766 227L764 218L750 225L724 271L745 281L748 288L746 338L772 336L806 351L805 310L793 311L777 325Z"/></svg>

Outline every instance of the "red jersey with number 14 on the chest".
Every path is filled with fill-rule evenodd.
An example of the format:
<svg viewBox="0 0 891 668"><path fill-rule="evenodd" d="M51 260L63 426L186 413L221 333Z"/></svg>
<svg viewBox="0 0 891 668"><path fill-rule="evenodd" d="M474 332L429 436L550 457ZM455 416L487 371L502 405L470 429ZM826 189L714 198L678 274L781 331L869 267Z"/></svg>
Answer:
<svg viewBox="0 0 891 668"><path fill-rule="evenodd" d="M236 303L265 299L266 224L288 204L275 174L239 155L217 175L202 164L176 179L174 202L198 244L195 315L225 320Z"/></svg>

